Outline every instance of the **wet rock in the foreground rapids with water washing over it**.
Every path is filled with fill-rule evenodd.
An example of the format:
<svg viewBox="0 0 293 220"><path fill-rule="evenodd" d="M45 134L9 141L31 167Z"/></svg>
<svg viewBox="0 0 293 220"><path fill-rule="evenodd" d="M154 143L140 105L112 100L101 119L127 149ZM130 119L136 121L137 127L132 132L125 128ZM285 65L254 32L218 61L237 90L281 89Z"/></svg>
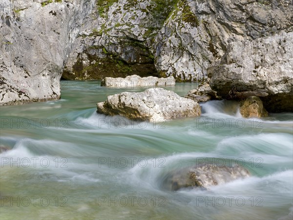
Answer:
<svg viewBox="0 0 293 220"><path fill-rule="evenodd" d="M243 167L220 167L206 164L170 172L163 181L163 188L167 190L179 190L187 187L208 189L210 186L248 176L250 176L250 172Z"/></svg>

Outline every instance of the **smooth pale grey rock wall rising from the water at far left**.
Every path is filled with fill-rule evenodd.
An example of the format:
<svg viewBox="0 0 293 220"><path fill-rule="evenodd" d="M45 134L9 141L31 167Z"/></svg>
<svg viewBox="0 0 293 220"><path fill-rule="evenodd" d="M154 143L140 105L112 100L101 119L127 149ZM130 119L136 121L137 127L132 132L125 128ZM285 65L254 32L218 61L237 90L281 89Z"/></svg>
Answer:
<svg viewBox="0 0 293 220"><path fill-rule="evenodd" d="M60 98L63 67L94 1L0 1L0 105Z"/></svg>

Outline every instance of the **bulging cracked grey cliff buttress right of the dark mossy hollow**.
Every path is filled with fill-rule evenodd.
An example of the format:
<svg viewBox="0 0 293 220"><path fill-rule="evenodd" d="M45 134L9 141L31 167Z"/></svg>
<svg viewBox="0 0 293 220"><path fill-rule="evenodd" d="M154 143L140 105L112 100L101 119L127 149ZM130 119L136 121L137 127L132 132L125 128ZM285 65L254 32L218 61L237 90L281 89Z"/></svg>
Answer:
<svg viewBox="0 0 293 220"><path fill-rule="evenodd" d="M155 39L161 76L201 80L227 45L269 36L293 25L291 0L179 0Z"/></svg>

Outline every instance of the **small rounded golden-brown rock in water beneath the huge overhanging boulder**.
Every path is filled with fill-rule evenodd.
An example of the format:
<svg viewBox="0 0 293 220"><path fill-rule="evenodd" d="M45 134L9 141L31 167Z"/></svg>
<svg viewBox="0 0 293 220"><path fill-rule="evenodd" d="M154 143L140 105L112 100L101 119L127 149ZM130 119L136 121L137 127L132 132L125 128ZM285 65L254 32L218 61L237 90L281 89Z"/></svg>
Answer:
<svg viewBox="0 0 293 220"><path fill-rule="evenodd" d="M240 113L243 117L267 117L268 111L263 107L263 103L259 97L251 96L240 102Z"/></svg>

